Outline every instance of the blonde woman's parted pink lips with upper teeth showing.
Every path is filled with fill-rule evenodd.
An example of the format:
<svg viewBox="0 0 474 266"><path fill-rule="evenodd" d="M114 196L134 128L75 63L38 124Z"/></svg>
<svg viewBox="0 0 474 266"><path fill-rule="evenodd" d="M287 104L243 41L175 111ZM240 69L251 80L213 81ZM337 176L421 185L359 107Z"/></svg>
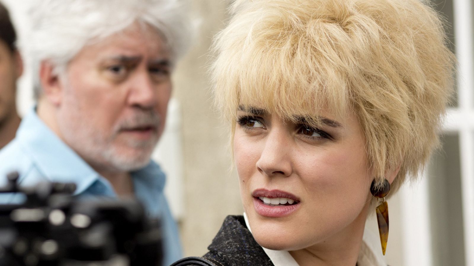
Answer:
<svg viewBox="0 0 474 266"><path fill-rule="evenodd" d="M265 217L290 215L300 207L300 199L282 190L257 189L252 193L255 211Z"/></svg>

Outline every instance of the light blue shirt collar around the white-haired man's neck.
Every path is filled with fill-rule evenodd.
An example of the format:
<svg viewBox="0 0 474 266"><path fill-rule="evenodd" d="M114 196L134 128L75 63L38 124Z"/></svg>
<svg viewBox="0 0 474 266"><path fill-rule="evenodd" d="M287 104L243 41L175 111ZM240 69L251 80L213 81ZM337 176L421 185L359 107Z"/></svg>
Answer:
<svg viewBox="0 0 474 266"><path fill-rule="evenodd" d="M107 195L115 195L109 181L91 168L38 117L36 107L23 118L16 139L49 181L75 183L77 188L74 195L85 192L91 186L100 189L100 194L107 191ZM165 176L160 166L150 160L144 168L130 174L137 197L144 197L146 203L152 204L157 196L153 194L162 192L164 188Z"/></svg>

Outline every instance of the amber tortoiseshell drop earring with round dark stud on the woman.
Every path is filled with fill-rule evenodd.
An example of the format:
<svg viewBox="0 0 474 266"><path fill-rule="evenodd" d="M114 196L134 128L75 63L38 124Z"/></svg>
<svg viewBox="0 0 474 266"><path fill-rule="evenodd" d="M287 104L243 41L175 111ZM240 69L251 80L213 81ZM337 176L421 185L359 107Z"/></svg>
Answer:
<svg viewBox="0 0 474 266"><path fill-rule="evenodd" d="M385 201L385 196L388 195L390 191L390 183L387 179L383 179L383 186L376 188L375 179L370 185L370 193L377 198L377 201L380 203L375 208L375 213L377 214L377 223L379 225L379 234L380 234L380 244L382 245L382 253L385 256L385 250L387 248L388 240L388 205Z"/></svg>

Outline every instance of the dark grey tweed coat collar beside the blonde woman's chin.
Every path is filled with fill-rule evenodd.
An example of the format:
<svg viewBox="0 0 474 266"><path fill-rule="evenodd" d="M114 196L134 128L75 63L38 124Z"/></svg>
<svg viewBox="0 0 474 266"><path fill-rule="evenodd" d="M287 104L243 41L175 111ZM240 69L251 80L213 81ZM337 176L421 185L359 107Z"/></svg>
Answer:
<svg viewBox="0 0 474 266"><path fill-rule="evenodd" d="M273 266L245 225L244 216L227 216L203 257L222 266Z"/></svg>

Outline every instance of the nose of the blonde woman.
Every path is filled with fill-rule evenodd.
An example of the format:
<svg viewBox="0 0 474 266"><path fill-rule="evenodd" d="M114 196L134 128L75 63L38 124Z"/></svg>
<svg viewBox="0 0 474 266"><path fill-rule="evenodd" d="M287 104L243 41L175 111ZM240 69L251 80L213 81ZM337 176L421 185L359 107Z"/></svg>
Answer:
<svg viewBox="0 0 474 266"><path fill-rule="evenodd" d="M289 177L292 174L291 143L292 139L286 133L270 132L256 163L258 170L268 177Z"/></svg>

